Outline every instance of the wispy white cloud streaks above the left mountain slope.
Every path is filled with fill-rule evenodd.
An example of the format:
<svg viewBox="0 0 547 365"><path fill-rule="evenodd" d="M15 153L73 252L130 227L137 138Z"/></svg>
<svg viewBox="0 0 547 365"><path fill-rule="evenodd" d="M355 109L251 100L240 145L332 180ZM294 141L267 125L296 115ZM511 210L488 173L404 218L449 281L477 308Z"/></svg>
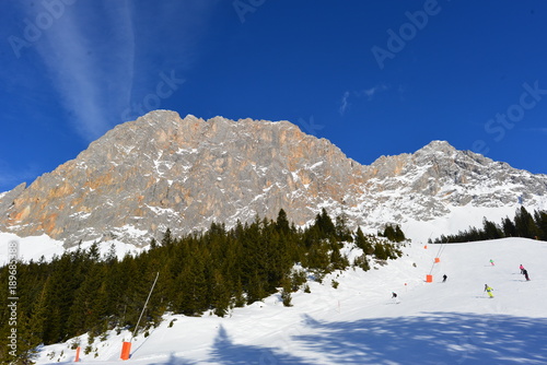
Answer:
<svg viewBox="0 0 547 365"><path fill-rule="evenodd" d="M135 37L127 1L114 8L77 2L44 31L36 50L77 131L94 140L127 105L133 78Z"/></svg>

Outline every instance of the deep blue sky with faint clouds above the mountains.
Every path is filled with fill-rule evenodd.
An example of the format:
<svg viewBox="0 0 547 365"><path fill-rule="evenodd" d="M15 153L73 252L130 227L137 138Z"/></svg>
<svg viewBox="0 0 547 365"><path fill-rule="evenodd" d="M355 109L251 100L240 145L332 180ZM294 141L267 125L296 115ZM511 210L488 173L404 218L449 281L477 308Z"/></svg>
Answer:
<svg viewBox="0 0 547 365"><path fill-rule="evenodd" d="M151 109L290 120L371 164L446 140L547 173L547 2L1 4L0 191Z"/></svg>

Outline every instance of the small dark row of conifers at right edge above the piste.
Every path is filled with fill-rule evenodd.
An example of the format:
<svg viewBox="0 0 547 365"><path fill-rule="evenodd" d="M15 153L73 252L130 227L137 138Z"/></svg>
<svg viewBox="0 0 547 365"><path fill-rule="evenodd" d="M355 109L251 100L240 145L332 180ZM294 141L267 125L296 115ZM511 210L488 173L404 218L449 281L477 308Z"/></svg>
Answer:
<svg viewBox="0 0 547 365"><path fill-rule="evenodd" d="M455 235L441 235L434 243L465 243L504 237L547 240L547 212L535 210L534 214L531 214L524 207L521 207L516 210L513 220L507 216L499 224L496 224L485 217L481 228L469 227Z"/></svg>

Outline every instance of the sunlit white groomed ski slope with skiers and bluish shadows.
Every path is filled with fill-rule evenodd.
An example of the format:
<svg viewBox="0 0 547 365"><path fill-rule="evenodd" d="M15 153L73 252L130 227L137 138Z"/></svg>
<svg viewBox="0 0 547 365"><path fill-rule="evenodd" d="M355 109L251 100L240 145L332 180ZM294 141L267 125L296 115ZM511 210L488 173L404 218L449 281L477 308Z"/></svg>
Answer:
<svg viewBox="0 0 547 365"><path fill-rule="evenodd" d="M435 263L435 257L440 262ZM490 264L490 259L494 266ZM89 364L547 364L547 243L503 238L407 244L404 257L368 272L350 269L224 318L165 315L131 341L129 331L78 338ZM531 276L525 281L519 266ZM433 282L426 282L431 274ZM443 274L447 275L442 283ZM151 278L151 281L153 278ZM333 287L333 280L338 282ZM484 292L493 289L493 298ZM398 294L397 301L392 292ZM172 325L170 327L170 325ZM37 364L73 363L66 343L43 346ZM90 350L86 354L84 349Z"/></svg>

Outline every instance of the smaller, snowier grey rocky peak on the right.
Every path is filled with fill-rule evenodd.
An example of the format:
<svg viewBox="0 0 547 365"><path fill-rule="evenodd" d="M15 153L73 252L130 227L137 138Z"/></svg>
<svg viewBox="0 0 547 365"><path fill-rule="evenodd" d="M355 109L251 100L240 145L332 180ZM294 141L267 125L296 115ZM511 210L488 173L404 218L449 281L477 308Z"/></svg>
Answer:
<svg viewBox="0 0 547 365"><path fill-rule="evenodd" d="M392 222L429 221L465 205L547 208L546 175L457 151L444 141L414 154L382 156L369 166L365 180L369 197L361 209Z"/></svg>

